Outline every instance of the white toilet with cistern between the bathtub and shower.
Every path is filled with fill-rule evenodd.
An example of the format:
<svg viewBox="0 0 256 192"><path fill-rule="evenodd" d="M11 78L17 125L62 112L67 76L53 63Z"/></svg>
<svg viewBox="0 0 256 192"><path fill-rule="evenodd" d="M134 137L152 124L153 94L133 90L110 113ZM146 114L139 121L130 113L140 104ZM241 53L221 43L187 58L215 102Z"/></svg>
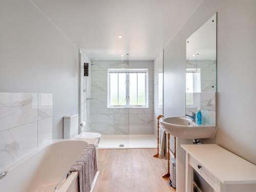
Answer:
<svg viewBox="0 0 256 192"><path fill-rule="evenodd" d="M81 127L82 128L82 127ZM63 117L63 139L98 139L100 142L101 134L93 132L79 133L78 114L65 115Z"/></svg>

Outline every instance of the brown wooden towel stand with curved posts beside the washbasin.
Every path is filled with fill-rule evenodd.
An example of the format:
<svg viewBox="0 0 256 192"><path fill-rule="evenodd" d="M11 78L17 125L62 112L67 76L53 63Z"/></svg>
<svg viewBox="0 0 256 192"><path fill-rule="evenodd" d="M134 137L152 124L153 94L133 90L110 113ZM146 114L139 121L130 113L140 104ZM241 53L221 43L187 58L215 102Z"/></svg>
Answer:
<svg viewBox="0 0 256 192"><path fill-rule="evenodd" d="M157 117L157 154L153 157L159 158L159 121L163 118L162 115L159 115ZM165 134L167 134L168 139L168 145L167 145L167 157L168 157L168 171L162 175L163 178L169 178L170 177L170 134L164 131ZM172 151L171 151L172 152ZM174 153L172 152L174 158L176 158L176 137L174 137Z"/></svg>

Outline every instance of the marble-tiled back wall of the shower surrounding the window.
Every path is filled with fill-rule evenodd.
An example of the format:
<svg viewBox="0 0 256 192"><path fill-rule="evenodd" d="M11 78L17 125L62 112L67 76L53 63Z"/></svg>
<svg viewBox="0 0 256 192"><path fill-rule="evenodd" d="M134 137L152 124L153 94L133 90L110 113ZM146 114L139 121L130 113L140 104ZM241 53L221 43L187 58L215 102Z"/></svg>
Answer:
<svg viewBox="0 0 256 192"><path fill-rule="evenodd" d="M92 66L90 127L86 131L101 134L153 134L153 61L101 61ZM148 69L148 108L109 109L108 68Z"/></svg>

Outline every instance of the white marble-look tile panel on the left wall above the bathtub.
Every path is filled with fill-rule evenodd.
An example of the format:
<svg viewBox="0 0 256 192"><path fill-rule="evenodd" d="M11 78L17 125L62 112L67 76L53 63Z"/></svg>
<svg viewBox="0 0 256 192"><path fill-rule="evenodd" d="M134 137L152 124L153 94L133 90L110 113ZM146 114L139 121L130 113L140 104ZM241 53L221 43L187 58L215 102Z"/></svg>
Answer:
<svg viewBox="0 0 256 192"><path fill-rule="evenodd" d="M53 95L0 92L0 169L52 139Z"/></svg>

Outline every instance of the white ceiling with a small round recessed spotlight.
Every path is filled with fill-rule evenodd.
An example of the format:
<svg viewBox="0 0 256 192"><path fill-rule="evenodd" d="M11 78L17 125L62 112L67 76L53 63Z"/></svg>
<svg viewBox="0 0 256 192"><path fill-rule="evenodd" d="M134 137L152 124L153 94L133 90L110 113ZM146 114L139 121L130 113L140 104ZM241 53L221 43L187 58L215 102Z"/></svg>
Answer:
<svg viewBox="0 0 256 192"><path fill-rule="evenodd" d="M91 59L102 54L111 59L111 55L129 53L131 60L154 60L202 2L202 0L32 1ZM123 37L118 38L119 34ZM117 59L116 56L115 58Z"/></svg>

